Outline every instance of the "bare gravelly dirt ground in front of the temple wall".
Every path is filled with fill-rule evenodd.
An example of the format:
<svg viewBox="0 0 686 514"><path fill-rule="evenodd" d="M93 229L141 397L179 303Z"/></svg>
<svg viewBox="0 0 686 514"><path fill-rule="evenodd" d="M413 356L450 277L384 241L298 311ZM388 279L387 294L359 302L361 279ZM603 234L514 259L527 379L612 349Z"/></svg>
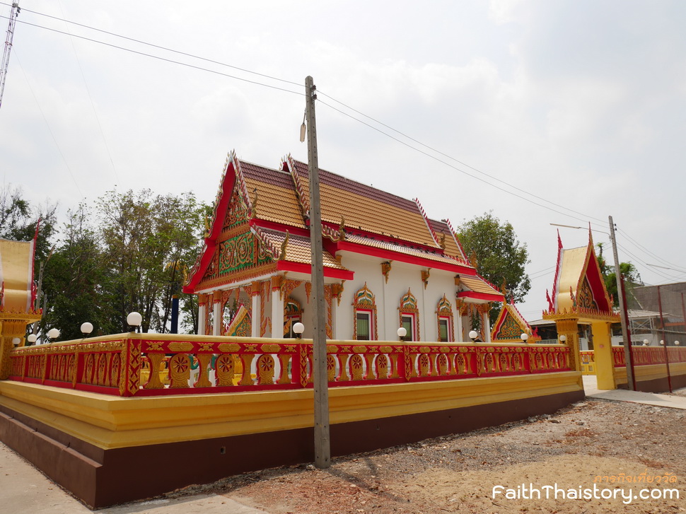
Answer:
<svg viewBox="0 0 686 514"><path fill-rule="evenodd" d="M272 514L680 513L685 424L683 410L588 400L552 416L337 458L330 469L281 467L167 496L217 493ZM634 483L641 474L651 481ZM678 498L634 498L642 489L676 489Z"/></svg>

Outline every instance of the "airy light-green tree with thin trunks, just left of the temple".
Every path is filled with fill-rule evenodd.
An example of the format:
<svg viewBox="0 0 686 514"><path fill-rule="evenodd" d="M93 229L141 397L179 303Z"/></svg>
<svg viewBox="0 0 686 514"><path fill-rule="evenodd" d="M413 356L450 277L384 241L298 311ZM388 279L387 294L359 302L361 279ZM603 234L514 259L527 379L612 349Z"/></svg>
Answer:
<svg viewBox="0 0 686 514"><path fill-rule="evenodd" d="M192 193L154 196L144 189L107 192L98 210L103 259L113 276L115 322L127 330L127 314L136 310L143 316L143 332L166 332L178 274L199 252L206 206Z"/></svg>

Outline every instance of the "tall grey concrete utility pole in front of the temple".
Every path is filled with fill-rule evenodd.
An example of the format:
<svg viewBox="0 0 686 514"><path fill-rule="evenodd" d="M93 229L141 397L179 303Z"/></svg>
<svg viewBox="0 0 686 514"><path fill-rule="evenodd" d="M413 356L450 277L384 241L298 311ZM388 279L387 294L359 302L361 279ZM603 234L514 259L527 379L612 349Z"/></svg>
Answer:
<svg viewBox="0 0 686 514"><path fill-rule="evenodd" d="M316 86L313 78L305 79L307 119L307 153L310 175L310 246L312 247L313 303L313 382L315 388L315 465L331 465L329 440L329 382L326 368L326 305L324 299L324 255L322 247L322 211L319 196L319 162L317 158L317 123L315 121Z"/></svg>

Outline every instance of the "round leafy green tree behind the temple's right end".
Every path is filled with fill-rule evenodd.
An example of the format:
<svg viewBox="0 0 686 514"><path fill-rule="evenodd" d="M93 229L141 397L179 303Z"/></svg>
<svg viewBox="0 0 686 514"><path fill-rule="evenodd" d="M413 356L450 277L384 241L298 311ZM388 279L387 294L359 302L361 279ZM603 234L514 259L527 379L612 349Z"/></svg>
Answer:
<svg viewBox="0 0 686 514"><path fill-rule="evenodd" d="M524 299L531 287L524 271L529 256L526 243L517 240L511 223L501 222L487 212L460 225L458 237L467 256L476 257L479 275L498 287L505 284L506 300ZM492 314L497 310L493 309Z"/></svg>

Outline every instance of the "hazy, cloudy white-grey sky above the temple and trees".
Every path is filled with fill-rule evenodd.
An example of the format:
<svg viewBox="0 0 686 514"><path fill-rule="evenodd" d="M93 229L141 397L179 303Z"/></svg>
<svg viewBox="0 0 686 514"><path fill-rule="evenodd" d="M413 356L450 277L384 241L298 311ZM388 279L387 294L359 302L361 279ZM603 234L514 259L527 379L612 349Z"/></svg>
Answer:
<svg viewBox="0 0 686 514"><path fill-rule="evenodd" d="M227 151L272 167L286 153L306 160L311 75L320 166L419 197L453 226L487 211L510 221L531 255L528 319L552 284L550 223L606 232L612 215L620 259L647 284L686 277L685 2L20 5L0 168L32 201L64 213L116 187L209 202ZM559 230L565 247L586 244L586 230Z"/></svg>

